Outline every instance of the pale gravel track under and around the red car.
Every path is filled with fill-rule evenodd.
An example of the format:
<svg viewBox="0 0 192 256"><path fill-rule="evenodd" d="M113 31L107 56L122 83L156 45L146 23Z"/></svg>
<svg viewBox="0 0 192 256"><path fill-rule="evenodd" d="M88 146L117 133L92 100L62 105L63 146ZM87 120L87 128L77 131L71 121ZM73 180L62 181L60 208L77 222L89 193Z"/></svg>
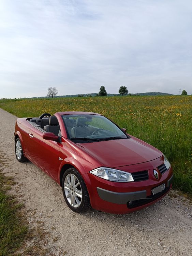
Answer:
<svg viewBox="0 0 192 256"><path fill-rule="evenodd" d="M186 197L172 190L160 202L126 215L95 210L74 213L56 182L31 162L16 160L16 118L0 109L4 173L17 182L11 193L25 203L30 226L39 225L48 232L42 246L50 247L51 255L192 255L192 207Z"/></svg>

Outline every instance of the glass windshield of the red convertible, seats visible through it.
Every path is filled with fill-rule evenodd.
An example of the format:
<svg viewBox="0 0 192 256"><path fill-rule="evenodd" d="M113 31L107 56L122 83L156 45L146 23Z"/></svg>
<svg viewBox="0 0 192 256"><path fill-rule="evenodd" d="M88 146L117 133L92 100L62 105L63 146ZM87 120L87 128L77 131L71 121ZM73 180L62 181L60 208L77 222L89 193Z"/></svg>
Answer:
<svg viewBox="0 0 192 256"><path fill-rule="evenodd" d="M62 115L68 138L78 143L127 139L125 133L102 115Z"/></svg>

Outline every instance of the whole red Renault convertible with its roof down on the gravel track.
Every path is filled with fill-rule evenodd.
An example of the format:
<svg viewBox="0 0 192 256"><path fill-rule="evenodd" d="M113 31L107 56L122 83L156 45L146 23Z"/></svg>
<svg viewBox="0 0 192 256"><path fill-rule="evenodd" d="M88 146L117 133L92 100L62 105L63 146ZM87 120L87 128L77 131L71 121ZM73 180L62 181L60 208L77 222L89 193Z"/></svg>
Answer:
<svg viewBox="0 0 192 256"><path fill-rule="evenodd" d="M18 118L15 154L29 159L60 184L75 212L90 206L124 214L157 202L172 188L167 158L108 118L57 112Z"/></svg>

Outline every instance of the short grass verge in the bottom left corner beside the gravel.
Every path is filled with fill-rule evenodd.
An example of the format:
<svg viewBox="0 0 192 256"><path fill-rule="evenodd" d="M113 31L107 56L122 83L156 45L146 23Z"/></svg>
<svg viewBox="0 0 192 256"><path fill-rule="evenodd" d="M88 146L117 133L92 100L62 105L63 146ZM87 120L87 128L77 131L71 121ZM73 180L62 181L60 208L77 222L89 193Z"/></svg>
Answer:
<svg viewBox="0 0 192 256"><path fill-rule="evenodd" d="M3 166L0 160L0 166ZM22 207L6 192L14 184L12 177L6 177L0 167L0 255L9 256L19 248L28 235Z"/></svg>

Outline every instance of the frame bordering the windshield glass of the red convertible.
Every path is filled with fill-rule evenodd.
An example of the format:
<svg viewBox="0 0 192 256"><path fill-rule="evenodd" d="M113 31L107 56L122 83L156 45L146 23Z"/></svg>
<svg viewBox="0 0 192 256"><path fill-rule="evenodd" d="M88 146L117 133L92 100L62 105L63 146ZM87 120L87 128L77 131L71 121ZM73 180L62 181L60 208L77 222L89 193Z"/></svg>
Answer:
<svg viewBox="0 0 192 256"><path fill-rule="evenodd" d="M93 116L96 116L96 115L98 115L98 116L102 116L102 117L104 117L104 118L106 118L107 120L109 120L111 123L113 123L117 128L119 128L120 129L120 131L121 132L123 132L123 134L126 136L126 138L118 138L118 137L121 137L122 135L118 135L117 136L117 139L130 139L131 137L124 131L124 130L122 130L122 128L121 127L119 127L116 123L114 123L111 119L109 119L109 118L107 118L106 116L104 116L104 115L100 115L100 114L78 114L78 113L75 113L75 114L63 114L63 115L61 115L61 118L62 118L62 122L63 122L63 124L64 124L64 127L65 127L65 131L66 131L66 133L67 133L67 137L68 137L68 139L69 140L71 140L72 142L75 142L75 143L93 143L93 142L99 142L99 141L107 141L107 140L110 140L109 139L109 137L112 137L112 136L109 136L109 137L106 137L106 138L100 138L101 140L99 140L99 138L98 138L98 140L91 140L91 139L93 139L93 138L89 138L89 137L85 137L85 138L87 138L87 139L90 139L90 141L89 140L80 140L80 139L78 139L78 137L77 137L77 139L75 140L75 138L73 138L73 137L70 137L70 135L69 135L69 132L68 132L68 128L67 128L67 125L65 124L65 122L64 122L64 118L63 117L65 117L65 116L72 116L72 115L74 115L74 116L78 116L78 115L93 115ZM80 117L79 117L80 118ZM114 137L114 136L113 136ZM114 140L114 138L113 138L113 140Z"/></svg>

